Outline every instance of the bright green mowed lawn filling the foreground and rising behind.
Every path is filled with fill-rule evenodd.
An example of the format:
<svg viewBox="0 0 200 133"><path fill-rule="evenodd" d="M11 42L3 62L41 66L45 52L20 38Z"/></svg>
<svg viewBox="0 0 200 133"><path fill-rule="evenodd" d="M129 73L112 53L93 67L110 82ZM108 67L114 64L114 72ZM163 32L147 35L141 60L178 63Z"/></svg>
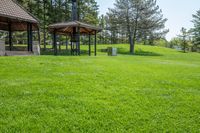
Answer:
<svg viewBox="0 0 200 133"><path fill-rule="evenodd" d="M0 132L200 132L200 54L115 46L0 57Z"/></svg>

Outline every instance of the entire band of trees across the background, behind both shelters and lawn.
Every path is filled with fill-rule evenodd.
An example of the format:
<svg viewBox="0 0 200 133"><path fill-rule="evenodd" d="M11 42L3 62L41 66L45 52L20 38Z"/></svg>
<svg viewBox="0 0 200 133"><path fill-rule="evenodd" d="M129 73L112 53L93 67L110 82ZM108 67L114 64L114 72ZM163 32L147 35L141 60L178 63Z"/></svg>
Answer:
<svg viewBox="0 0 200 133"><path fill-rule="evenodd" d="M52 36L48 33L49 24L71 21L71 0L17 0L26 10L40 21L41 42L46 49ZM78 0L79 21L102 28L97 36L100 44L130 44L130 53L134 54L136 43L157 45L157 42L184 52L200 51L200 10L193 14L193 28L181 29L181 34L170 42L165 39L169 32L165 29L166 18L156 0L116 0L114 7L105 15L99 14L99 5L95 0ZM2 34L2 33L1 33ZM15 42L25 43L26 33L14 33ZM5 34L4 34L5 36ZM59 37L66 42L65 36ZM23 41L22 41L23 40ZM88 38L81 38L87 44Z"/></svg>

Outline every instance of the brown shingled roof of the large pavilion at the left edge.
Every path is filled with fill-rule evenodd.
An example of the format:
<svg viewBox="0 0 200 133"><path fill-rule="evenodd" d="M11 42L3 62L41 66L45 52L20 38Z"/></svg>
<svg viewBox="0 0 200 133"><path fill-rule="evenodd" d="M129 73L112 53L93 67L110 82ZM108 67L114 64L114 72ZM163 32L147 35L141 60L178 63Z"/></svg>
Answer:
<svg viewBox="0 0 200 133"><path fill-rule="evenodd" d="M11 23L12 31L25 31L27 22L33 24L33 30L37 29L39 21L15 0L0 0L0 30L8 30Z"/></svg>

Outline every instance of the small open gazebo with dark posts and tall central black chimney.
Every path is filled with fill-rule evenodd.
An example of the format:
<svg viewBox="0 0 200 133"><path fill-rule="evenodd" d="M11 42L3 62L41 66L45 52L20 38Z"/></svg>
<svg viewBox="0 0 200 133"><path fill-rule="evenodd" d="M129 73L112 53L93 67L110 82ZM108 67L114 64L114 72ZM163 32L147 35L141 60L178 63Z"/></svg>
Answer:
<svg viewBox="0 0 200 133"><path fill-rule="evenodd" d="M89 35L89 56L91 56L91 35L95 36L94 55L97 55L97 33L101 28L78 21L77 0L72 0L72 21L49 25L49 32L53 34L54 54L57 55L56 35L71 37L71 55L80 55L80 35Z"/></svg>

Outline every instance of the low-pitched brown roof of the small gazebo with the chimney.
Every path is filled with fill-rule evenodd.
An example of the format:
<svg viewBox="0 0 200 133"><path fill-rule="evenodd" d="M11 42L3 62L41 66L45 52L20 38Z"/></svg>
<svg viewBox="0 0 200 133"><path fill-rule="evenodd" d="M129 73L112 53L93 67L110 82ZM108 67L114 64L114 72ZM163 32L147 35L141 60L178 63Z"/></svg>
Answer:
<svg viewBox="0 0 200 133"><path fill-rule="evenodd" d="M62 22L49 25L49 31L53 33L54 31L56 34L61 35L71 35L73 34L73 28L79 27L80 34L91 34L94 35L95 32L100 32L101 28L89 25L80 21L71 21L71 22Z"/></svg>

